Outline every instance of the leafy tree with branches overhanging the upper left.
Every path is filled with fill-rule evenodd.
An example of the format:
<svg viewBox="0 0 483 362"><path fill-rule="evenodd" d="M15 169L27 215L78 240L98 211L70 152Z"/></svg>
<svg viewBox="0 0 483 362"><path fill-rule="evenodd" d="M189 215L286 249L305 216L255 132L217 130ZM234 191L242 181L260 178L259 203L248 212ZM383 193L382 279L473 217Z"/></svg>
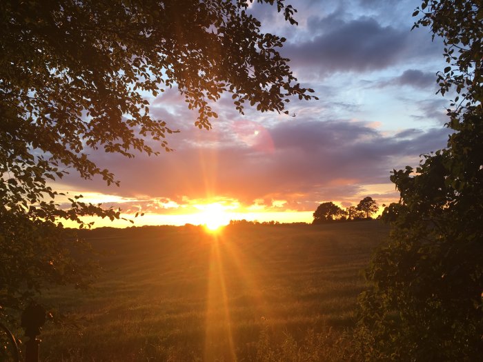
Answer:
<svg viewBox="0 0 483 362"><path fill-rule="evenodd" d="M295 24L295 10L276 4ZM177 87L195 125L211 128L210 101L231 94L243 113L286 112L288 97L315 98L302 88L264 34L247 1L14 1L0 3L0 307L54 284L84 285L95 274L79 261L88 245L59 220L116 219L119 210L70 197L48 181L69 171L83 179L114 175L90 159L92 150L134 157L169 151L174 132L150 114L150 97ZM152 146L154 140L157 146ZM5 308L0 310L5 311Z"/></svg>

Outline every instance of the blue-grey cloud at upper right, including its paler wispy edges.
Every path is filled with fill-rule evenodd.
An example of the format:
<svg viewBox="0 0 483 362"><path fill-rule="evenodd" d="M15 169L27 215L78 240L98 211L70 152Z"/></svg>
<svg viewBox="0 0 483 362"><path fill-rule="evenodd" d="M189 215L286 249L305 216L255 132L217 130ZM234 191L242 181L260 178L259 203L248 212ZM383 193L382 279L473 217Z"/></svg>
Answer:
<svg viewBox="0 0 483 362"><path fill-rule="evenodd" d="M411 10L407 11L410 17ZM417 66L420 61L434 60L442 54L442 42L431 41L427 30L411 31L411 25L397 21L386 21L384 25L388 17L377 14L353 16L340 6L324 17L308 17L304 37L289 38L292 42L282 48L282 54L291 60L295 70L319 77L334 72L386 70L401 63ZM400 80L414 81L409 79L411 76L417 74L409 72Z"/></svg>

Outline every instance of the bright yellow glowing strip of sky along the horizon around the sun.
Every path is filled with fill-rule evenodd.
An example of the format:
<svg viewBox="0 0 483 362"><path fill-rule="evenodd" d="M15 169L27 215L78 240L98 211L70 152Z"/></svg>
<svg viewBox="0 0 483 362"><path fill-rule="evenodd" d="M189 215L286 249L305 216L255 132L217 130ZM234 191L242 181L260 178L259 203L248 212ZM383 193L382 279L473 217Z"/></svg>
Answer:
<svg viewBox="0 0 483 362"><path fill-rule="evenodd" d="M63 207L68 207L70 201L68 197L73 194L82 194L79 201L86 203L102 203L103 207L121 210L121 218L115 221L100 219L97 217L83 217L86 223L95 222L93 228L114 227L126 228L130 226L144 225L176 225L185 224L205 225L210 230L228 225L231 220L258 221L260 223L268 221L278 221L279 223L311 223L313 212L320 203L332 201L340 208L347 208L357 203L368 195L373 196L382 212L382 205L388 205L397 201L391 184L365 185L359 193L351 195L342 200L320 199L307 201L306 203L293 203L282 199L282 197L270 197L268 199L255 199L251 203L243 203L234 197L206 197L190 199L181 197L178 199L152 198L148 195L123 196L115 194L103 194L101 192L90 192L86 190L69 190L61 188L62 192L68 192L66 197L59 197L59 203ZM206 192L208 194L208 192ZM283 196L283 195L281 195ZM310 195L302 193L288 195L291 199L309 198ZM135 214L144 216L135 217ZM376 216L377 216L376 214ZM134 221L131 223L130 220ZM61 221L64 226L77 228L78 225L72 221Z"/></svg>

